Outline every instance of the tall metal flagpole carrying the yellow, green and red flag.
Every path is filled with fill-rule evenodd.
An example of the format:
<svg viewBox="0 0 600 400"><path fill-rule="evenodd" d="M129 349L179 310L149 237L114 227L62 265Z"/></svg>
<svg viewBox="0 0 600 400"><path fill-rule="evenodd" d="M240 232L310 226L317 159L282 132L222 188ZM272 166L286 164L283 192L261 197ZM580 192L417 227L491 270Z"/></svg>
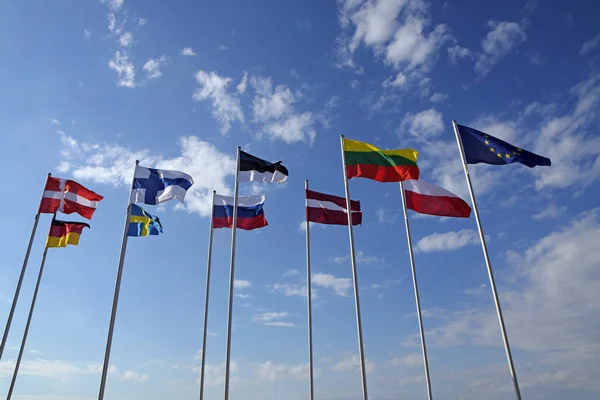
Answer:
<svg viewBox="0 0 600 400"><path fill-rule="evenodd" d="M348 235L350 236L350 259L352 260L352 281L354 283L354 305L356 307L356 327L358 331L358 355L360 357L360 375L362 380L363 400L368 400L367 371L365 368L365 354L362 337L362 322L360 316L360 299L358 296L358 276L356 273L356 256L354 254L354 232L352 230L352 207L350 204L350 188L346 175L346 154L344 153L344 135L340 135L342 146L342 170L344 172L344 186L346 189L346 210L348 210Z"/></svg>

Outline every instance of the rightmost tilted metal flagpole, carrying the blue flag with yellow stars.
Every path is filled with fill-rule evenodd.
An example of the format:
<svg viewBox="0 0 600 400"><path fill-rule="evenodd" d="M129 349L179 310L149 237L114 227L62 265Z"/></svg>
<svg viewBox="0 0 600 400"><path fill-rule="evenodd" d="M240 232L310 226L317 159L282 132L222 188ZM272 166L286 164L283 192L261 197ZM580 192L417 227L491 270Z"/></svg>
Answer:
<svg viewBox="0 0 600 400"><path fill-rule="evenodd" d="M488 255L487 245L485 242L485 235L483 234L483 228L481 227L481 220L479 218L479 210L477 209L477 202L475 201L475 193L473 193L473 185L471 184L471 176L469 175L469 167L465 158L465 149L463 148L462 140L458 133L458 126L456 121L452 121L454 127L454 134L456 135L456 142L458 143L458 149L460 151L460 157L465 171L465 177L467 178L467 186L469 187L469 195L471 196L471 203L473 204L473 211L475 214L475 221L477 222L477 228L479 229L479 238L481 239L481 247L483 249L483 256L485 258L485 265L487 267L488 276L490 278L490 286L492 288L492 294L494 295L494 303L496 305L496 313L498 314L498 323L500 324L500 331L502 332L502 340L504 341L504 349L506 350L506 358L508 359L508 368L512 376L513 386L515 389L515 396L517 400L521 400L521 389L519 388L519 381L517 380L517 373L515 371L515 365L510 351L510 344L508 342L508 335L506 334L506 326L504 325L504 317L502 316L502 308L500 307L500 298L498 297L498 290L496 289L496 282L494 280L494 273L492 272L492 264L490 263L490 257Z"/></svg>

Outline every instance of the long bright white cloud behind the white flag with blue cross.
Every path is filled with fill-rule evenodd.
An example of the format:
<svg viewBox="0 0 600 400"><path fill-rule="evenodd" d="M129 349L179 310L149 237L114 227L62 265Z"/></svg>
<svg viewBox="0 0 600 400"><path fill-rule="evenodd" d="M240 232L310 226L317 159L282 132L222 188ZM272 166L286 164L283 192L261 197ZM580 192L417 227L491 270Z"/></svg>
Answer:
<svg viewBox="0 0 600 400"><path fill-rule="evenodd" d="M213 189L224 195L231 194L226 180L233 175L235 159L196 136L181 137L178 140L180 154L164 157L147 149L131 150L117 144L79 143L61 133L61 156L69 163L75 179L113 186L131 185L135 160L144 166L184 171L192 176L194 184L187 192L185 205L179 207L205 217L211 213Z"/></svg>

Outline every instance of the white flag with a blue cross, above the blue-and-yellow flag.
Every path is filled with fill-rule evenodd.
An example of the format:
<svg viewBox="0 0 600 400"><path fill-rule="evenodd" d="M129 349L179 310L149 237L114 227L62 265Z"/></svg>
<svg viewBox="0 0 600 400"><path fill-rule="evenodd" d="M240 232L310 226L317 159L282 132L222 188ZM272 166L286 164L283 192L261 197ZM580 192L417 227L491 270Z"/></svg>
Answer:
<svg viewBox="0 0 600 400"><path fill-rule="evenodd" d="M193 184L192 177L184 172L136 166L131 202L156 205L177 199L183 203Z"/></svg>

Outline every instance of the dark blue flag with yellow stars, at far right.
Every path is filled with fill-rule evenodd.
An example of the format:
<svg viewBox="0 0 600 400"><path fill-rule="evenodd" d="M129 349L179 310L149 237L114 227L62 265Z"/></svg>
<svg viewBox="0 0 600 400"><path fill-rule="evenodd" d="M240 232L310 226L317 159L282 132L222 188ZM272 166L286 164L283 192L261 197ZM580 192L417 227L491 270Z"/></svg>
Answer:
<svg viewBox="0 0 600 400"><path fill-rule="evenodd" d="M504 165L518 162L529 168L538 165L548 167L551 165L549 158L523 150L468 126L458 124L456 126L463 144L467 164Z"/></svg>

